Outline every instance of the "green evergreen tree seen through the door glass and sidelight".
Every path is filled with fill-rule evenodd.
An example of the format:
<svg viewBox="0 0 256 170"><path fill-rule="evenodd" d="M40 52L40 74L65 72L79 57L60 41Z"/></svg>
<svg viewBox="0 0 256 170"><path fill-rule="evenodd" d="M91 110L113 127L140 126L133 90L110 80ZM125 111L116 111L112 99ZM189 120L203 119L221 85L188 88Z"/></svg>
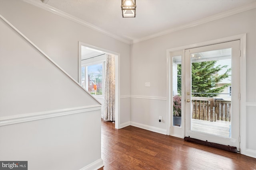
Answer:
<svg viewBox="0 0 256 170"><path fill-rule="evenodd" d="M231 68L228 68L224 74L218 74L220 70L227 65L218 65L214 68L216 61L205 61L191 64L192 93L210 93L210 94L192 94L197 97L216 97L230 84L218 87L217 83L230 76ZM178 64L178 93L181 94L181 64Z"/></svg>

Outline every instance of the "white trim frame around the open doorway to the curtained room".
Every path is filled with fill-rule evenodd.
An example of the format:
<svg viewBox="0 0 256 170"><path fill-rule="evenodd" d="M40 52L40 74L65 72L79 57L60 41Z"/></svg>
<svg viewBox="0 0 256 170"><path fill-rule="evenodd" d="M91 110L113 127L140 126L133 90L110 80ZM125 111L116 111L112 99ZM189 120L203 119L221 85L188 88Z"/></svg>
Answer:
<svg viewBox="0 0 256 170"><path fill-rule="evenodd" d="M96 49L99 51L103 51L106 54L114 55L115 56L115 128L120 129L120 54L114 51L110 51L107 49L103 49L100 47L96 47L90 44L86 44L83 42L78 43L79 45L79 55L78 55L78 82L81 84L81 46L89 47L92 49Z"/></svg>

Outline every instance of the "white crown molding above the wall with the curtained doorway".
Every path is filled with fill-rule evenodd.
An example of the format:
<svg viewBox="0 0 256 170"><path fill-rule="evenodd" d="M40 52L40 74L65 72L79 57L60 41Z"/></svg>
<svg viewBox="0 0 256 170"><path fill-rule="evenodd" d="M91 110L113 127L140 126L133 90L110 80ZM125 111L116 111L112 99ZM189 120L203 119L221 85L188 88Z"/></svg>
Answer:
<svg viewBox="0 0 256 170"><path fill-rule="evenodd" d="M37 7L39 7L39 8L42 8L42 9L44 9L44 10L47 10L47 11L49 11L49 12L52 12L52 13L58 15L58 16L61 16L61 17L63 17L63 18L66 18L66 19L68 19L68 20L71 20L71 21L74 21L74 22L76 22L76 23L79 23L79 24L81 24L81 25L83 25L83 26L86 26L86 27L88 27L88 28L90 28L90 29L93 29L93 30L95 30L95 31L98 31L98 32L100 32L100 33L103 33L103 34L105 34L105 35L108 35L108 36L110 36L110 37L112 37L112 38L114 38L114 39L117 39L118 41L122 41L123 43L126 43L126 44L131 44L131 43L132 43L132 41L130 41L130 40L128 40L128 39L124 39L124 38L122 38L122 37L119 37L118 35L115 35L115 34L113 34L113 33L110 33L110 32L108 32L108 31L106 31L106 30L104 30L104 29L102 29L102 28L100 28L100 27L97 27L97 26L91 24L91 23L88 23L88 22L86 22L86 21L84 21L84 20L81 20L81 19L79 19L79 18L76 18L76 17L74 17L74 16L72 16L72 15L66 13L66 12L63 12L63 11L61 11L61 10L58 10L57 8L54 8L54 7L49 6L49 5L47 5L47 4L44 4L44 3L41 2L41 1L36 1L36 0L23 0L23 1L24 1L24 2L27 2L27 3L29 3L29 4L32 4L32 5L34 5L34 6L37 6Z"/></svg>

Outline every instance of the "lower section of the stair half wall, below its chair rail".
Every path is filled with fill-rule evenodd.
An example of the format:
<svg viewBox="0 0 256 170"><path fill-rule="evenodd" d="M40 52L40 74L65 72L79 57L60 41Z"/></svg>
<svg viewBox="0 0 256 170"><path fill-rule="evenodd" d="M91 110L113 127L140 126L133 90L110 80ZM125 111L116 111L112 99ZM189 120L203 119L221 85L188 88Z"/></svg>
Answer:
<svg viewBox="0 0 256 170"><path fill-rule="evenodd" d="M29 170L81 169L101 160L100 124L97 110L2 126L0 160L26 160Z"/></svg>

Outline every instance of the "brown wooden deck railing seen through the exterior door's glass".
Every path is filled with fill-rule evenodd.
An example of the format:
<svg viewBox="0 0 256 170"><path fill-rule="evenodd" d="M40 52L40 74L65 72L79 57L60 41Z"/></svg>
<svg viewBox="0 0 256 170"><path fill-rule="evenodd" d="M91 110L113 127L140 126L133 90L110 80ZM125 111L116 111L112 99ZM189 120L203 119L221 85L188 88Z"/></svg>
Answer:
<svg viewBox="0 0 256 170"><path fill-rule="evenodd" d="M230 121L231 101L192 97L192 119Z"/></svg>

